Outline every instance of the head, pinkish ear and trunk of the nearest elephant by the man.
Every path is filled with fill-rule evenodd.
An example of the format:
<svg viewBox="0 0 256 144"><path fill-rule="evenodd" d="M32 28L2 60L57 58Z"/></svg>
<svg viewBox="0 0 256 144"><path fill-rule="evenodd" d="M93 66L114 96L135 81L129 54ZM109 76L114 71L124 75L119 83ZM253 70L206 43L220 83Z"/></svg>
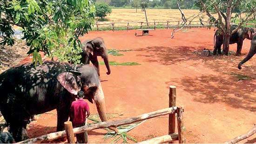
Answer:
<svg viewBox="0 0 256 144"><path fill-rule="evenodd" d="M96 104L101 121L107 121L105 97L101 87L99 76L93 66L80 65L76 71L62 72L57 76L60 84L71 94L83 91L85 98ZM117 129L111 130L118 132Z"/></svg>

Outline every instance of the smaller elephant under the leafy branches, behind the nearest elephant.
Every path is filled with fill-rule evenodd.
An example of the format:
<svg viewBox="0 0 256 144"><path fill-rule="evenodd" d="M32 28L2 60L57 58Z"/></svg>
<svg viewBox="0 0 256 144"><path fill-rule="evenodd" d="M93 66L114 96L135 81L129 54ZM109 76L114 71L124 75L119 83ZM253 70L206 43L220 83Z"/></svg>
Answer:
<svg viewBox="0 0 256 144"><path fill-rule="evenodd" d="M82 43L81 63L88 65L90 61L97 68L100 76L100 67L97 56L101 56L108 69L107 74L110 74L110 67L108 63L108 51L105 42L102 38L95 38L93 40L86 40Z"/></svg>

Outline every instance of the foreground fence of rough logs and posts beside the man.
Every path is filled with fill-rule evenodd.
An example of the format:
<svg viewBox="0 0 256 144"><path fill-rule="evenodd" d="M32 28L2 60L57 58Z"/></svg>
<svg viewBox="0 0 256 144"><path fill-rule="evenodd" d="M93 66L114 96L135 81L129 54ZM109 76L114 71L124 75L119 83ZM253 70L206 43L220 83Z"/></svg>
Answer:
<svg viewBox="0 0 256 144"><path fill-rule="evenodd" d="M43 143L47 141L52 141L61 137L67 137L68 143L74 143L74 134L91 131L95 129L108 128L108 127L117 127L125 124L132 124L135 122L143 121L145 119L155 118L163 115L169 115L169 123L168 123L168 135L162 137L155 137L146 141L141 142L141 144L151 144L151 143L168 143L174 140L178 140L179 143L185 143L186 139L184 136L185 127L183 124L183 108L176 107L176 87L169 86L169 108L153 111L149 113L142 114L140 116L136 116L133 118L125 118L121 120L109 121L109 122L101 122L97 124L85 125L78 128L70 127L70 123L66 124L66 131L58 131L50 134L46 134L40 137L35 137L31 139L27 139L21 141L19 143ZM177 113L177 128L178 133L175 133L175 114ZM69 124L68 124L69 123Z"/></svg>

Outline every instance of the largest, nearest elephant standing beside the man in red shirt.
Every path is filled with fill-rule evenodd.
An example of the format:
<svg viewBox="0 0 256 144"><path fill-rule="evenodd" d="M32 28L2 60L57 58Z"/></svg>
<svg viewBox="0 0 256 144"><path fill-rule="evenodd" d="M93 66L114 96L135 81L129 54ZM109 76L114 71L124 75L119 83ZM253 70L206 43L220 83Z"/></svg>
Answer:
<svg viewBox="0 0 256 144"><path fill-rule="evenodd" d="M54 109L57 131L61 131L80 90L91 103L94 100L101 120L107 121L104 94L94 66L54 61L36 67L25 64L1 73L0 111L16 142L28 138L26 127L31 115Z"/></svg>

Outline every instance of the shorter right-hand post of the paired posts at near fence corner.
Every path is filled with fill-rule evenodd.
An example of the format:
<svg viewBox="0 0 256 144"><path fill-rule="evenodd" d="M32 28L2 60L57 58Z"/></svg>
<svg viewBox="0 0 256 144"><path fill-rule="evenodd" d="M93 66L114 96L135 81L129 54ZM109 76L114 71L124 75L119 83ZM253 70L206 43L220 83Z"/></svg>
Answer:
<svg viewBox="0 0 256 144"><path fill-rule="evenodd" d="M179 137L179 144L185 144L185 127L183 124L183 108L177 108L177 126L178 126L178 137Z"/></svg>

